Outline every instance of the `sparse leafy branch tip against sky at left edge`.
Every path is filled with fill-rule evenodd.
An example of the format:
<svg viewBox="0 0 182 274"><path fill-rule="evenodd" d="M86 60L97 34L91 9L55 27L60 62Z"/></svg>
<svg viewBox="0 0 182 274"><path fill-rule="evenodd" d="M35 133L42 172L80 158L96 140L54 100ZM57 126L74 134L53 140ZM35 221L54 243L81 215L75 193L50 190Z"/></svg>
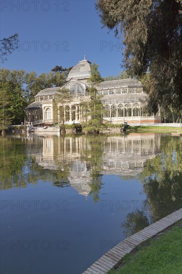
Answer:
<svg viewBox="0 0 182 274"><path fill-rule="evenodd" d="M18 48L18 33L15 33L8 38L0 40L0 59L2 63L7 60L6 56L11 54L13 50Z"/></svg>

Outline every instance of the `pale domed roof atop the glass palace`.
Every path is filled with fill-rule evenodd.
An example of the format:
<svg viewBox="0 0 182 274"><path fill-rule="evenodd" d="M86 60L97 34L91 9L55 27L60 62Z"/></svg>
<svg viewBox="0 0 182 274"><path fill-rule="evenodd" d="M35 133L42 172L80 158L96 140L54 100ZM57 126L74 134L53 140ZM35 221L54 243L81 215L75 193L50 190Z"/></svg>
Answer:
<svg viewBox="0 0 182 274"><path fill-rule="evenodd" d="M74 79L88 79L91 77L91 62L86 60L79 61L79 63L74 66L69 74L67 81L69 81L71 78Z"/></svg>

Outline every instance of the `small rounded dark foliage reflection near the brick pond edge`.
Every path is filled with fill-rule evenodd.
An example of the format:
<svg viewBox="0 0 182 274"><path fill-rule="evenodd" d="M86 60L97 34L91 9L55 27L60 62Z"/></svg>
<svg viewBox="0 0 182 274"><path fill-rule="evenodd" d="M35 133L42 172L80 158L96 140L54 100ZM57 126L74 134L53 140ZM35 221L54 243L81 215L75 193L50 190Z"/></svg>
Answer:
<svg viewBox="0 0 182 274"><path fill-rule="evenodd" d="M123 232L126 237L129 237L143 228L149 226L147 216L143 211L137 209L135 212L131 212L126 216L126 221L121 224L121 227L125 228Z"/></svg>

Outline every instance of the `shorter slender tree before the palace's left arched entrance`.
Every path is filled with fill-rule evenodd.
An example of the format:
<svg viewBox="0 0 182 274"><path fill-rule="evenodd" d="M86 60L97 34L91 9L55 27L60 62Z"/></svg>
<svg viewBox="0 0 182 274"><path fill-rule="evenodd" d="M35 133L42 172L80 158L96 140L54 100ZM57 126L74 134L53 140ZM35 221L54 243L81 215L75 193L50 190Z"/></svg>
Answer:
<svg viewBox="0 0 182 274"><path fill-rule="evenodd" d="M70 103L72 101L72 95L70 94L70 90L66 88L62 88L58 90L56 94L56 98L54 101L55 106L55 116L58 117L58 123L61 122L61 132L66 133L65 130L65 104ZM57 122L56 121L56 122Z"/></svg>

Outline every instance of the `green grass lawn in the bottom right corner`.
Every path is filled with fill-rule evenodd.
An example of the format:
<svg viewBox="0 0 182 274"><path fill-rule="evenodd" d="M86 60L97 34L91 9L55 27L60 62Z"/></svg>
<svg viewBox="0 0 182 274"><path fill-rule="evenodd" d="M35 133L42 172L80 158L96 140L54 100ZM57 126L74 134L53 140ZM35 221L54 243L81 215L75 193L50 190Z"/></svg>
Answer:
<svg viewBox="0 0 182 274"><path fill-rule="evenodd" d="M167 233L150 239L136 252L121 260L118 270L108 274L180 274L182 273L182 221Z"/></svg>

